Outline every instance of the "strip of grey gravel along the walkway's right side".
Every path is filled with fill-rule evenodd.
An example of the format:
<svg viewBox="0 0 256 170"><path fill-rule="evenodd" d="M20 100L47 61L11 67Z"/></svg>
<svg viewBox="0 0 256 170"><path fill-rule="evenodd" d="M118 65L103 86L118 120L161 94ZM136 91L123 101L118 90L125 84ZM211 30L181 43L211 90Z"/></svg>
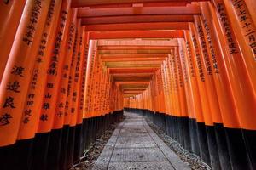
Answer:
<svg viewBox="0 0 256 170"><path fill-rule="evenodd" d="M195 170L212 170L205 162L201 161L199 156L190 153L188 150L183 149L183 147L177 143L176 140L167 136L163 129L157 127L151 120L146 118L148 125L158 134L160 139L162 139L184 162L187 162L191 169Z"/></svg>

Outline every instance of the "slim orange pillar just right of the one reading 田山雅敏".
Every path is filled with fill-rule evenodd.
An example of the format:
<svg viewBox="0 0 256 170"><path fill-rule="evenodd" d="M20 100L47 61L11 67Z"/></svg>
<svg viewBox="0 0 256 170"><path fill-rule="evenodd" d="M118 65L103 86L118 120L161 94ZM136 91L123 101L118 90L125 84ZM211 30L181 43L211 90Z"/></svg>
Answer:
<svg viewBox="0 0 256 170"><path fill-rule="evenodd" d="M68 125L70 120L70 114L66 111L68 107L67 96L70 95L71 82L69 82L69 74L71 67L71 60L73 54L73 44L75 38L75 26L77 10L71 8L67 17L67 40L65 49L65 59L61 70L61 82L58 88L58 98L55 104L55 116L53 129L60 129L63 125Z"/></svg>

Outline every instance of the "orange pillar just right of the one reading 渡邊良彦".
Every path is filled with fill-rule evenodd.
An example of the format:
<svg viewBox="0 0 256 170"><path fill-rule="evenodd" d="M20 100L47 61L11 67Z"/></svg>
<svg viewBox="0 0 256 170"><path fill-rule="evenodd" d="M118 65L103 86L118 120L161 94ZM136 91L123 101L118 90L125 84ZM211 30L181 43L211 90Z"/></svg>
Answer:
<svg viewBox="0 0 256 170"><path fill-rule="evenodd" d="M18 139L32 139L38 131L39 112L43 101L42 87L47 78L50 53L52 51L57 22L61 11L61 0L51 0L46 24L39 43L36 62L32 71L32 79L26 94L26 102L22 110Z"/></svg>

